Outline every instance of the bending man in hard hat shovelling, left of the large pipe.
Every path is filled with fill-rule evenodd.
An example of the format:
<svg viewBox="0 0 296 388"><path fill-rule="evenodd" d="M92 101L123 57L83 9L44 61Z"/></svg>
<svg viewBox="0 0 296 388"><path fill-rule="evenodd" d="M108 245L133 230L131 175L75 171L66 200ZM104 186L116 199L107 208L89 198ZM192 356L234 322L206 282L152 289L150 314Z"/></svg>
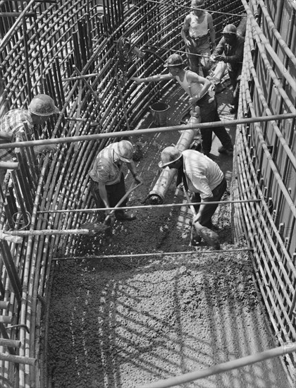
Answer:
<svg viewBox="0 0 296 388"><path fill-rule="evenodd" d="M123 162L132 173L136 183L142 183L137 174L135 162L132 160L134 148L128 140L112 143L99 152L92 171L90 171L91 191L97 207L115 207L125 195L125 179L123 176ZM121 204L126 206L127 200ZM119 221L132 221L135 214L126 212L120 207L114 212ZM109 210L107 211L109 214Z"/></svg>

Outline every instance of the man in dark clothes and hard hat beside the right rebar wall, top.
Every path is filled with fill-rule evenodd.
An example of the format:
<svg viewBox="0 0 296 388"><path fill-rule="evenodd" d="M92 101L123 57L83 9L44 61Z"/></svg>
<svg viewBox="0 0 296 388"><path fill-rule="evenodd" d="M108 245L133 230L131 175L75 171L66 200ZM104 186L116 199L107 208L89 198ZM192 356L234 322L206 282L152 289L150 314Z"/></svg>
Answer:
<svg viewBox="0 0 296 388"><path fill-rule="evenodd" d="M238 35L237 29L233 24L226 25L222 34L223 37L218 42L210 60L216 62L223 61L227 65L230 83L233 87L233 102L232 107L230 107L230 113L235 114L238 111L245 39Z"/></svg>

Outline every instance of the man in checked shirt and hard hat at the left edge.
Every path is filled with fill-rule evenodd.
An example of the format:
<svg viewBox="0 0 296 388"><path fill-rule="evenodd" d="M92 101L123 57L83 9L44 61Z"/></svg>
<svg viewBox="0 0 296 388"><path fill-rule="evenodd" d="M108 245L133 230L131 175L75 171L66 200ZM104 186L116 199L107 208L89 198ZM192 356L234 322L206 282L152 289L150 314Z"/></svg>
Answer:
<svg viewBox="0 0 296 388"><path fill-rule="evenodd" d="M50 116L58 114L59 110L54 100L48 95L37 95L32 99L28 109L12 109L0 119L0 138L2 141L14 141L16 136L21 140L33 140L32 133L35 125L42 125ZM37 145L36 154L45 150L55 151L56 145ZM13 150L0 150L1 162L13 159Z"/></svg>

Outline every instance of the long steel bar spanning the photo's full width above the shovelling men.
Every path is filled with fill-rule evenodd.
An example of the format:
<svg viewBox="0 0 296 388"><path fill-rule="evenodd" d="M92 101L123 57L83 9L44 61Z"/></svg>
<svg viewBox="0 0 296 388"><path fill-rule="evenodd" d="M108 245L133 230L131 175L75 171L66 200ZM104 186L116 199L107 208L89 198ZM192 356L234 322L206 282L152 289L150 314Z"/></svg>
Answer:
<svg viewBox="0 0 296 388"><path fill-rule="evenodd" d="M264 116L264 117L252 117L252 118L242 118L236 120L223 120L223 121L212 121L209 123L199 123L197 126L167 126L159 128L146 128L146 129L137 129L137 131L124 131L125 137L128 136L138 136L150 133L162 133L162 132L176 132L176 131L186 131L187 129L192 128L214 128L216 126L237 126L238 124L249 124L249 123L261 123L264 121L273 121L273 120L287 120L293 119L296 117L296 114L275 114L273 116ZM80 135L80 136L69 136L65 138L54 138L54 139L44 139L44 140L28 140L24 142L14 142L14 143L3 143L0 144L0 150L6 148L16 148L16 147L30 147L34 145L45 145L45 144L60 144L60 143L73 143L80 142L82 140L97 140L97 139L106 139L106 138L122 138L123 132L112 132L112 133L98 133L95 135Z"/></svg>

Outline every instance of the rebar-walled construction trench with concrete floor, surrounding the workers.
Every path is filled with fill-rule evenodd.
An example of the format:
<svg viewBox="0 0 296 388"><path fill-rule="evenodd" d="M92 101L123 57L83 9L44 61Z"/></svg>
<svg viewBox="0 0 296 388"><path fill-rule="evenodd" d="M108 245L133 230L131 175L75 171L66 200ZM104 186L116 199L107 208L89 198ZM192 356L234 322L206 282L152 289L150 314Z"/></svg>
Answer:
<svg viewBox="0 0 296 388"><path fill-rule="evenodd" d="M165 72L171 52L185 57L174 31L188 7L0 1L0 116L40 91L61 110L33 141L0 143L16 147L0 169L1 388L295 386L296 6L206 4L217 40L228 23L246 30L238 116L227 77L216 95L235 145L219 154L214 137L210 155L227 181L219 249L190 245L188 198L158 167L164 147L198 141L188 97L173 82L130 80ZM128 201L137 219L106 238L89 172L125 138L144 181ZM32 145L49 143L58 152L36 158Z"/></svg>

